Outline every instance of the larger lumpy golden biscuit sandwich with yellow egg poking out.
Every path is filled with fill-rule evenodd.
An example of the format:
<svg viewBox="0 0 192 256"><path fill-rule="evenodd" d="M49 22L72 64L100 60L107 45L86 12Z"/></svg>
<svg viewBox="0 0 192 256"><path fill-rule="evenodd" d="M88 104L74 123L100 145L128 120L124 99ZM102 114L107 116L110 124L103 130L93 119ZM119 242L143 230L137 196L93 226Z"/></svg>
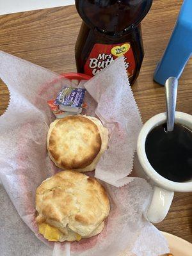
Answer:
<svg viewBox="0 0 192 256"><path fill-rule="evenodd" d="M36 222L50 241L79 241L99 234L109 209L105 189L83 173L59 172L36 189Z"/></svg>

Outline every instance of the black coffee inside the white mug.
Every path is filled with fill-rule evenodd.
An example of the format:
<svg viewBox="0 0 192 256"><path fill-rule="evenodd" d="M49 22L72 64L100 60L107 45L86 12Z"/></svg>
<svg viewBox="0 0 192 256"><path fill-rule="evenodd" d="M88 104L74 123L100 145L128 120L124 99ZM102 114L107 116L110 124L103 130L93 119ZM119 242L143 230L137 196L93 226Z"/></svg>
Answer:
<svg viewBox="0 0 192 256"><path fill-rule="evenodd" d="M166 124L155 127L147 136L145 150L154 170L166 179L185 182L192 178L192 132L175 124L172 132Z"/></svg>

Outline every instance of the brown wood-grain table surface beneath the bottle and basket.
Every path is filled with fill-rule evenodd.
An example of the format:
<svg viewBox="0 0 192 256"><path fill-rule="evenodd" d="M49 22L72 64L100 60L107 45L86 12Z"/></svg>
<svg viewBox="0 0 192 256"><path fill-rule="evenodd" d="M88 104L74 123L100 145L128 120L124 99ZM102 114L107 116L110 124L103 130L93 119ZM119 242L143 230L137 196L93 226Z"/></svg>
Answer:
<svg viewBox="0 0 192 256"><path fill-rule="evenodd" d="M143 122L165 109L164 88L152 77L181 4L182 0L154 0L142 22L145 58L132 90ZM0 49L54 72L75 72L74 45L80 25L75 6L2 15ZM8 99L8 90L0 81L0 115ZM192 113L192 58L179 81L177 111ZM170 212L156 227L192 243L192 193L175 193Z"/></svg>

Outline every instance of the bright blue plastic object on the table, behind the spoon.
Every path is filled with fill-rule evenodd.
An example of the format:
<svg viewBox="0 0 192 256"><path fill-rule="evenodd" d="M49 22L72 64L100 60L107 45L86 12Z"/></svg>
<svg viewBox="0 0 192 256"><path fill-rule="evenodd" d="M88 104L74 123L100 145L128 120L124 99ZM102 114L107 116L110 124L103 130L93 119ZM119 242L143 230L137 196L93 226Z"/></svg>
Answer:
<svg viewBox="0 0 192 256"><path fill-rule="evenodd" d="M154 80L165 84L168 77L179 79L192 55L192 0L184 0L172 36L154 73Z"/></svg>

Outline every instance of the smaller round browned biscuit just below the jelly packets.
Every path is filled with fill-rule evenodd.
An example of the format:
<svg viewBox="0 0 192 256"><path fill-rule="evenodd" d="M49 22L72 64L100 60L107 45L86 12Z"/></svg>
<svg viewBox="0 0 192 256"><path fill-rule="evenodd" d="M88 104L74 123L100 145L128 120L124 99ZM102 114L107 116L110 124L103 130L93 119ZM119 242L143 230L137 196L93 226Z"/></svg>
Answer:
<svg viewBox="0 0 192 256"><path fill-rule="evenodd" d="M108 147L108 129L92 116L67 116L51 123L47 135L49 156L64 170L95 169Z"/></svg>

